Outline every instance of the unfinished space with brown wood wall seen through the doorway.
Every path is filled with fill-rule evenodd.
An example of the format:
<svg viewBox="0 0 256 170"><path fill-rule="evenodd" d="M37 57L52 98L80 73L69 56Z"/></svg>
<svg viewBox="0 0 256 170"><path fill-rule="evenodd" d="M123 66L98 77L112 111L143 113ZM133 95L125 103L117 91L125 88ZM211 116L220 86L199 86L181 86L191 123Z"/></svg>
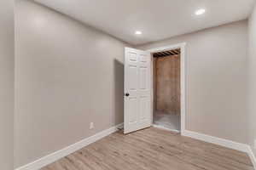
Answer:
<svg viewBox="0 0 256 170"><path fill-rule="evenodd" d="M154 125L181 129L180 48L153 54Z"/></svg>

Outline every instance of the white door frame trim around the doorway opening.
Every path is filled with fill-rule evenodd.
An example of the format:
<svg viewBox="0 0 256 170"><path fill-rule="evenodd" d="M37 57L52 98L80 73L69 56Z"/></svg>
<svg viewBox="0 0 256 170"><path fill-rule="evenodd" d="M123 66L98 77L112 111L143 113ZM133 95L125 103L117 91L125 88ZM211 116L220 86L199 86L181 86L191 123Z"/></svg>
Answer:
<svg viewBox="0 0 256 170"><path fill-rule="evenodd" d="M180 84L181 84L181 96L180 96L180 108L181 108L181 135L184 134L185 132L185 127L186 127L186 99L187 99L187 95L186 95L186 85L187 85L187 72L186 72L186 42L181 42L181 43L177 43L174 45L169 45L169 46L165 46L165 47L161 47L161 48L151 48L148 49L146 51L150 52L151 54L151 76L150 76L150 84L151 84L151 121L152 121L152 125L154 124L154 72L153 72L153 54L157 53L157 52L161 52L161 51L166 51L166 50L172 50L172 49L176 49L176 48L180 48L181 50L181 54L180 54Z"/></svg>

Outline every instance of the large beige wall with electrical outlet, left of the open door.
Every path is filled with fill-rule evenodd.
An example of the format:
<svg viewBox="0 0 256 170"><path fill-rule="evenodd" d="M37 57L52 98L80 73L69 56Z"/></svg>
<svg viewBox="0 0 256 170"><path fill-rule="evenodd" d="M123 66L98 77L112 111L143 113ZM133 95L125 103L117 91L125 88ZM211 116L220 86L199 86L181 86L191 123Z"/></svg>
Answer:
<svg viewBox="0 0 256 170"><path fill-rule="evenodd" d="M26 0L15 39L15 167L123 122L127 44Z"/></svg>

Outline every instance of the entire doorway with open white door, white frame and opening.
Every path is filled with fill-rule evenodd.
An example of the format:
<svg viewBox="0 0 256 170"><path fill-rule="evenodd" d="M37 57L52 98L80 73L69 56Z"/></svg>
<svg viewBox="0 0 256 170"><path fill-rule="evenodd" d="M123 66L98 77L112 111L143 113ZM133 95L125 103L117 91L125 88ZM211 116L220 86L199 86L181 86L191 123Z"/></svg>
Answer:
<svg viewBox="0 0 256 170"><path fill-rule="evenodd" d="M124 133L150 126L185 133L185 46L125 48Z"/></svg>

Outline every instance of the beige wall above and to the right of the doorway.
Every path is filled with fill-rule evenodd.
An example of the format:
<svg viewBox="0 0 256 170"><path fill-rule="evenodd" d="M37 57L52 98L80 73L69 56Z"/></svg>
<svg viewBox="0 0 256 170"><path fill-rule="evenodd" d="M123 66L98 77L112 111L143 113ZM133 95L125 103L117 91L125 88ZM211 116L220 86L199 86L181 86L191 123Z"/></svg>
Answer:
<svg viewBox="0 0 256 170"><path fill-rule="evenodd" d="M186 129L247 144L247 20L153 42L186 42Z"/></svg>

